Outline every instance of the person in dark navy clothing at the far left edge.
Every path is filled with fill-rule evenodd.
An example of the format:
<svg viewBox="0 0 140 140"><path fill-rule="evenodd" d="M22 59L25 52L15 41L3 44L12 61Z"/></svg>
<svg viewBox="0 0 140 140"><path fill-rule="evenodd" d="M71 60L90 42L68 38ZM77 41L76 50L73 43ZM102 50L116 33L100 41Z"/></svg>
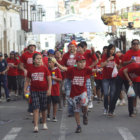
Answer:
<svg viewBox="0 0 140 140"><path fill-rule="evenodd" d="M7 75L6 75L7 70L8 70L7 62L5 59L3 59L3 54L0 52L0 101L1 101L1 85L3 85L5 95L6 95L6 100L7 102L9 102L10 97L9 97L9 90L7 87Z"/></svg>

